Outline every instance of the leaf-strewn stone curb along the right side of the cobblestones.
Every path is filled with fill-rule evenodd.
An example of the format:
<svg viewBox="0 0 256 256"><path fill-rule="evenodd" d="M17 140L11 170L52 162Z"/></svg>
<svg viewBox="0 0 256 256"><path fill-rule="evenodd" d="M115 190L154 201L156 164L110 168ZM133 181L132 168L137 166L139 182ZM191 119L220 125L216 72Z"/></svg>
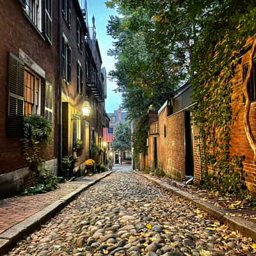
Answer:
<svg viewBox="0 0 256 256"><path fill-rule="evenodd" d="M175 195L178 195L186 200L189 200L190 202L195 204L198 208L204 210L205 212L207 212L217 220L220 220L221 223L227 224L230 230L234 230L234 231L237 230L238 232L243 234L243 236L251 237L253 241L256 241L256 223L252 221L244 220L241 217L232 217L230 216L230 212L226 211L225 209L216 207L215 205L209 204L208 202L204 202L198 196L191 195L186 191L182 191L181 189L171 186L169 184L166 184L159 179L150 177L145 173L138 173L134 171L132 171L132 173L136 173L141 177L151 180L152 182L156 183L162 188L168 191L172 191L172 193L174 193Z"/></svg>

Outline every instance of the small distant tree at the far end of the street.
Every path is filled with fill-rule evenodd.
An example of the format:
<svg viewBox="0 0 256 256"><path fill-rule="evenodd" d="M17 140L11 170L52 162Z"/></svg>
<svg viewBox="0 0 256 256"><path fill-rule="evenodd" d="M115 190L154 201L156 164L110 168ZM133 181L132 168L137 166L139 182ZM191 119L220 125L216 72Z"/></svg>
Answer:
<svg viewBox="0 0 256 256"><path fill-rule="evenodd" d="M113 150L120 151L121 156L124 150L131 150L131 122L125 121L116 125L114 131L114 140L111 147Z"/></svg>

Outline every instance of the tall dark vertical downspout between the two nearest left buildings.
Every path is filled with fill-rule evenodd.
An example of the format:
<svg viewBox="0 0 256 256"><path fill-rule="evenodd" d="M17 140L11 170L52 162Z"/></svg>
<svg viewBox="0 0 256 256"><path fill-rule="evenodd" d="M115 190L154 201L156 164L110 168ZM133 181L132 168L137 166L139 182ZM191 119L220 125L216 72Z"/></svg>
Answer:
<svg viewBox="0 0 256 256"><path fill-rule="evenodd" d="M62 128L62 119L61 119L61 83L62 83L62 80L61 80L61 70L62 70L62 58L61 58L61 51L62 51L62 8L61 8L61 1L59 1L59 24L58 24L58 27L59 27L59 81L58 81L58 90L57 90L57 98L58 98L58 139L57 139L57 142L58 142L58 172L57 174L59 175L60 172L61 172L61 150L62 150L62 138L61 138L61 135L62 135L62 131L61 131L61 128Z"/></svg>

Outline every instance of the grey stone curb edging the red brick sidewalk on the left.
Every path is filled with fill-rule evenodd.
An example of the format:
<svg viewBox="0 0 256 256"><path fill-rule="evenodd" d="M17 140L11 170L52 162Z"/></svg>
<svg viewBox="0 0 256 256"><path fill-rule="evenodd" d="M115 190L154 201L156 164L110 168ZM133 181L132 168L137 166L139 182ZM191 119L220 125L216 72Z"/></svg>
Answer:
<svg viewBox="0 0 256 256"><path fill-rule="evenodd" d="M3 255L4 253L12 250L15 244L20 241L23 236L34 232L36 228L40 227L40 225L45 223L45 221L51 219L52 216L54 216L57 212L60 212L61 209L63 209L67 204L74 200L74 198L82 191L99 182L99 180L104 179L112 172L113 171L110 171L102 175L102 177L93 179L91 182L81 185L79 188L72 191L68 195L63 196L62 198L48 205L41 211L29 216L28 218L26 218L26 220L21 221L13 227L8 228L6 231L0 234L0 255Z"/></svg>

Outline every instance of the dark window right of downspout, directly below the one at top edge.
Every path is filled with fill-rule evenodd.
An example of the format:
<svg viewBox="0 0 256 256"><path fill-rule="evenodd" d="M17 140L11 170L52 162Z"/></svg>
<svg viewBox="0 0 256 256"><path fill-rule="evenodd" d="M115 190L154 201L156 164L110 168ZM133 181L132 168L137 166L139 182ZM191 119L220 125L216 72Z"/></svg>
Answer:
<svg viewBox="0 0 256 256"><path fill-rule="evenodd" d="M68 45L65 36L62 36L62 77L71 83L71 47Z"/></svg>

